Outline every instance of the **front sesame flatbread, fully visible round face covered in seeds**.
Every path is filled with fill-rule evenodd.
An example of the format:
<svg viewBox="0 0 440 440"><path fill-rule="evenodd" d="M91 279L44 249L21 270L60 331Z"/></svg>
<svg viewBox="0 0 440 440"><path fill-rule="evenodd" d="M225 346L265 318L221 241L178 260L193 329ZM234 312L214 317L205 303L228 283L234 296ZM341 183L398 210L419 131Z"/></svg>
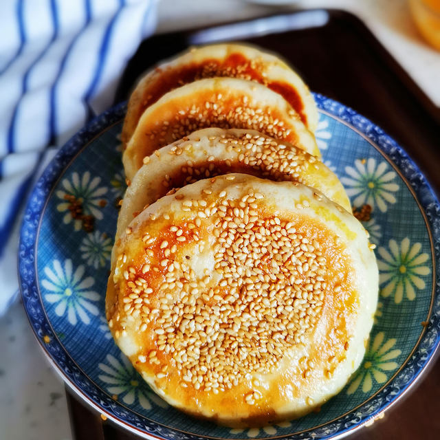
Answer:
<svg viewBox="0 0 440 440"><path fill-rule="evenodd" d="M229 174L143 210L107 320L168 403L228 426L300 417L358 368L378 274L361 223L307 186Z"/></svg>

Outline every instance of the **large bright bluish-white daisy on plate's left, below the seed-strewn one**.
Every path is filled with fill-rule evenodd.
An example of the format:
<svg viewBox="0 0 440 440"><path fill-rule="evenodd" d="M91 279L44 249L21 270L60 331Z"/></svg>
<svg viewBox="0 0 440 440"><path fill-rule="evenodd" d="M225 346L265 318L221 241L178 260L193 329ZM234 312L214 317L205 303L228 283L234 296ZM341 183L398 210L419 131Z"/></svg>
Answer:
<svg viewBox="0 0 440 440"><path fill-rule="evenodd" d="M74 271L72 260L67 259L64 267L58 260L54 260L52 268L46 266L44 273L47 279L41 281L47 303L56 304L54 309L57 316L63 316L67 311L67 320L76 325L78 318L84 324L90 323L89 315L98 316L99 309L94 303L100 295L90 287L95 280L91 276L84 277L85 267L80 265Z"/></svg>

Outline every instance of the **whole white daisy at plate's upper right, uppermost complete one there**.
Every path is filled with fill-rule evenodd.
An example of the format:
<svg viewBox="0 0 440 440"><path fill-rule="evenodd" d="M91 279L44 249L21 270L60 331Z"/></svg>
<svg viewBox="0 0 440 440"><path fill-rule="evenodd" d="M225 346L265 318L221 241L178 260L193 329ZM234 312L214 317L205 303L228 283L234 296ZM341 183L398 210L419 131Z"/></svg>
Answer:
<svg viewBox="0 0 440 440"><path fill-rule="evenodd" d="M342 177L349 197L355 197L353 206L362 206L367 203L371 208L379 208L386 212L386 203L396 203L393 192L399 190L399 185L394 182L397 174L388 170L386 162L377 164L376 159L356 159L355 167L347 166L345 172L350 177Z"/></svg>

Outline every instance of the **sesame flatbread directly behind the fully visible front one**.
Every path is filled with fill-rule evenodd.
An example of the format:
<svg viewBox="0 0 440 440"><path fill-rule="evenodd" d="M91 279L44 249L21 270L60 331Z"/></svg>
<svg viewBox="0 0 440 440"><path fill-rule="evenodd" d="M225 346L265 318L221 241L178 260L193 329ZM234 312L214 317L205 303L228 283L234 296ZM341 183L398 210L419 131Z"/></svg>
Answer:
<svg viewBox="0 0 440 440"><path fill-rule="evenodd" d="M298 181L351 212L338 177L309 153L254 130L203 129L144 158L124 195L116 239L133 217L168 191L226 173Z"/></svg>

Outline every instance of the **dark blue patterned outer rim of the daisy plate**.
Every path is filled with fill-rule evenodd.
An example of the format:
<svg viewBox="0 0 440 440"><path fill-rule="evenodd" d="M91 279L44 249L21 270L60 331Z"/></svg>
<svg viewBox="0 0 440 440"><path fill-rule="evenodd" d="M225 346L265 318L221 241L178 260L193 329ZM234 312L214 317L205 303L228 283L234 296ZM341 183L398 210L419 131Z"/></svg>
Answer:
<svg viewBox="0 0 440 440"><path fill-rule="evenodd" d="M349 412L346 412L344 415L332 419L331 421L327 421L325 423L322 423L318 426L314 426L312 428L308 428L307 430L298 431L292 434L283 434L281 436L274 436L274 437L268 437L270 439L296 439L296 438L305 438L304 436L306 434L311 434L312 432L315 433L316 438L322 438L322 439L340 439L342 437L345 437L348 434L351 434L355 430L360 429L364 424L369 423L369 421L374 421L377 419L377 417L380 417L380 415L383 414L385 410L388 410L395 404L397 401L401 399L401 397L404 397L410 391L413 386L417 382L419 382L420 378L423 376L424 373L429 369L430 365L432 364L432 361L434 358L437 357L437 354L439 353L439 347L440 347L440 340L439 340L439 327L440 327L440 321L434 320L436 317L433 313L435 305L436 305L436 298L437 301L440 297L440 285L439 285L439 278L440 274L437 273L437 265L436 263L440 261L440 245L436 247L435 245L435 237L440 236L440 220L438 221L439 224L435 224L435 215L432 216L428 214L428 209L433 210L434 214L439 214L440 212L440 206L439 201L437 199L436 192L433 190L432 186L429 184L426 177L421 173L419 170L417 164L412 160L412 158L404 151L403 148L401 148L397 142L393 140L393 138L389 135L387 135L382 129L380 129L379 126L371 122L369 119L365 118L364 116L360 115L350 107L345 106L344 104L341 104L340 102L327 98L326 96L323 96L321 94L314 94L314 98L316 100L317 107L322 113L328 113L329 116L333 117L336 120L339 120L339 122L342 122L349 126L351 129L355 129L356 132L358 132L362 137L364 137L373 147L379 151L382 156L387 159L388 163L390 163L395 170L399 170L400 177L404 180L406 186L408 189L412 192L413 196L415 196L415 200L417 201L419 208L421 208L421 212L423 214L424 220L426 221L426 226L428 228L428 231L430 231L430 245L431 245L431 252L433 256L433 270L432 270L432 297L431 297L431 303L430 303L430 312L428 314L429 322L428 325L421 331L421 334L419 336L419 340L415 344L414 348L412 349L412 353L408 355L408 358L406 358L404 364L402 364L401 368L393 375L393 377L386 382L386 384L380 388L372 397L367 399L366 401L363 401L362 404L359 406L351 409ZM43 322L45 326L47 327L47 332L45 335L39 335L39 329L37 328L38 322L35 322L34 317L31 316L31 310L30 305L28 304L28 298L26 297L26 292L28 292L28 289L30 287L32 290L31 294L36 295L36 298L34 300L37 300L39 303L39 306L41 307L41 311L43 311L43 315L46 314L45 307L43 307L42 298L41 298L41 291L37 288L38 286L38 274L35 270L36 267L36 250L37 250L37 244L38 244L38 236L39 236L39 226L41 224L41 218L45 212L45 207L47 206L47 201L49 200L50 195L52 194L52 190L54 189L54 186L56 186L57 182L63 174L65 173L65 170L67 170L68 165L72 163L72 161L75 159L77 155L79 155L84 148L92 142L96 137L99 137L103 131L108 130L113 124L120 122L122 118L124 117L124 112L126 109L126 102L122 102L115 107L111 107L111 109L105 111L101 115L96 116L89 124L87 124L82 130L80 130L76 135L74 135L69 142L67 142L60 150L56 153L56 156L52 159L50 164L47 166L39 180L37 181L36 185L32 189L31 195L28 199L27 206L25 208L25 215L23 217L23 223L21 225L21 232L20 232L20 243L19 243L19 285L20 285L20 291L21 291L21 297L23 299L23 306L26 311L26 315L28 316L28 320L30 322L30 326L32 327L32 331L34 332L34 336L39 341L39 344L41 348L43 349L43 353L47 356L47 358L50 360L50 363L55 367L57 373L61 375L63 381L69 386L69 388L72 389L76 393L76 395L79 395L82 399L84 399L87 404L89 404L92 408L100 412L101 414L105 414L109 419L113 420L115 423L118 423L118 425L130 430L131 432L141 435L144 438L148 439L163 439L163 438L177 438L181 436L182 439L201 439L201 438L210 438L210 439L221 439L221 437L208 437L208 436L202 436L201 434L195 434L193 432L185 432L182 430L179 430L178 428L171 428L169 426L166 426L162 423L159 423L157 421L153 421L152 419L149 419L147 417L144 417L143 415L140 415L139 413L131 410L131 408L127 408L126 406L122 407L132 412L136 417L140 417L149 423L153 423L155 425L155 430L157 430L157 426L164 428L166 431L164 434L168 434L168 437L162 437L159 435L157 437L153 432L146 432L146 423L142 423L143 429L134 426L134 423L131 424L128 421L125 421L124 419L118 417L113 412L110 412L111 406L108 405L108 408L104 408L102 406L103 402L101 401L100 404L97 404L94 398L92 398L87 392L83 390L83 388L80 388L78 385L74 384L73 380L65 370L61 367L58 362L56 361L53 353L51 354L48 349L47 345L52 342L52 340L58 341L58 344L61 347L61 353L65 355L67 360L70 362L73 362L73 364L78 368L78 365L73 360L73 358L69 355L69 352L67 352L67 349L65 349L64 345L61 344L61 341L58 340L56 333L52 331L52 325L50 323L49 318L46 316L46 321ZM412 177L408 177L406 174L408 173L408 170L406 173L404 173L401 170L401 164L405 163L406 166L412 168L413 175ZM412 180L418 181L417 187L415 188L412 184ZM431 206L425 206L425 203L423 203L420 199L423 197L423 194L421 194L422 190L428 194L428 198L430 196L431 198ZM41 192L41 194L40 194ZM420 194L419 194L420 193ZM42 199L43 197L43 199ZM36 200L35 200L36 199ZM32 202L37 201L38 206L32 206ZM32 223L33 224L30 224ZM32 234L31 236L28 236L29 229L36 232L34 234L34 239L32 240ZM30 243L28 243L30 240ZM27 286L27 283L24 281L25 277L28 275L26 272L26 263L28 266L31 264L30 272L33 272L32 285ZM34 271L32 271L32 268L34 268ZM437 282L436 282L437 281ZM26 287L28 289L26 289ZM30 298L32 299L32 298ZM440 316L440 303L439 303L439 311L437 311L437 314ZM45 316L43 316L45 318ZM435 322L434 322L435 321ZM437 325L436 325L437 323ZM41 329L40 329L41 330ZM429 353L426 354L425 358L423 359L423 355L419 356L419 362L420 364L417 365L418 369L415 369L410 377L410 380L404 384L404 386L401 386L401 388L398 388L398 392L395 396L393 396L389 401L386 401L385 403L382 401L379 405L379 408L376 408L375 410L371 410L370 412L366 412L366 414L362 415L356 415L355 412L357 410L360 410L364 408L371 400L377 400L379 399L380 394L384 394L385 388L387 386L392 386L392 381L395 380L397 375L399 373L402 373L404 370L407 369L408 364L412 361L411 356L415 356L417 354L417 351L420 349L421 344L423 340L425 340L428 335L429 331L437 331L437 338L434 338L434 343L428 347L427 351ZM44 337L48 336L50 334L52 336L52 340L50 342L45 342ZM50 337L50 336L49 336ZM56 347L58 351L60 351L60 347ZM64 353L63 353L64 352ZM415 360L413 360L415 362ZM81 370L81 369L80 369ZM82 370L81 370L82 371ZM91 382L92 387L98 388L98 394L104 394L107 398L111 399L107 395L107 393L102 390L96 383L91 381L89 377L87 377L87 380ZM384 396L386 397L386 395ZM119 403L117 403L119 404ZM358 411L359 412L359 411ZM353 421L353 418L358 418L358 421ZM347 419L345 421L344 426L342 426L342 420ZM339 422L339 424L338 424ZM331 432L322 432L321 434L316 434L316 430L320 430L320 428L325 427L332 427L333 430ZM159 432L161 430L159 429ZM158 433L159 433L158 432ZM171 435L170 435L171 434ZM228 439L232 440L232 439Z"/></svg>

